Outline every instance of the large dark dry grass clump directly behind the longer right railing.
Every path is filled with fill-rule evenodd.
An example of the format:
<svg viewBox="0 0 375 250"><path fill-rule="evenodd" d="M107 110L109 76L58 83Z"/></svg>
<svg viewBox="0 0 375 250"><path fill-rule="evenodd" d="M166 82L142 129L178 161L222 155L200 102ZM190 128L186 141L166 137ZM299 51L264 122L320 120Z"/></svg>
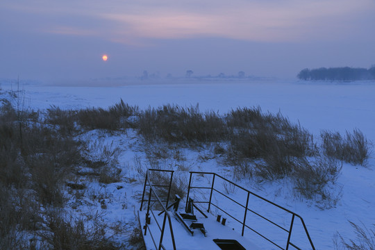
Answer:
<svg viewBox="0 0 375 250"><path fill-rule="evenodd" d="M244 165L244 160L251 160L255 162L256 176L269 180L291 176L307 156L317 153L313 135L290 124L281 114L243 108L232 110L226 119L233 131L226 153L228 163ZM249 172L248 167L240 169Z"/></svg>

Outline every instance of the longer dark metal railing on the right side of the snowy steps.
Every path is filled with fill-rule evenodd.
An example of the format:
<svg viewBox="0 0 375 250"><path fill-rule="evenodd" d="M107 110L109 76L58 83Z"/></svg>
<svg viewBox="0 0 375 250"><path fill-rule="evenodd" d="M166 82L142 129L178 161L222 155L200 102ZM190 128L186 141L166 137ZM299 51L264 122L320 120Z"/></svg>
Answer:
<svg viewBox="0 0 375 250"><path fill-rule="evenodd" d="M193 174L210 174L210 175L213 175L213 179L212 179L212 185L211 187L192 187L192 175ZM246 200L246 205L244 206L243 204L239 203L238 201L235 201L234 199L231 199L231 197L228 197L226 194L224 194L223 192L220 192L219 190L217 190L215 188L215 177L218 177L218 178L222 178L223 181L226 181L228 183L231 183L231 185L235 185L235 187L237 188L240 188L241 190L244 190L244 192L247 192L247 200ZM299 249L301 250L301 248L297 247L296 244L293 244L290 239L291 239L291 236L292 236L292 229L293 229L293 225L294 225L294 219L297 217L300 219L301 221L301 224L303 225L303 228L305 230L305 233L306 233L306 236L310 242L310 246L313 248L313 250L315 250L315 247L314 247L314 244L313 244L313 241L311 240L310 238L310 235L308 233L308 230L306 228L306 224L305 222L303 221L302 217L297 215L296 213L286 209L286 208L283 208L282 206L279 206L278 204L272 202L272 201L269 201L263 197L260 197L258 194L254 194L253 192L245 189L245 188L242 188L240 185L237 185L235 183L233 183L232 181L229 181L228 179L222 177L222 176L219 176L218 174L215 174L215 173L212 173L212 172L190 172L190 180L189 180L189 188L188 188L188 195L186 197L186 207L188 206L188 201L189 201L189 195L190 195L190 190L191 189L208 189L210 190L210 199L209 201L194 201L194 203L208 203L208 213L210 212L210 207L211 206L215 206L215 208L219 209L222 211L222 213L225 213L226 215L228 215L229 217L231 217L232 219L234 219L235 221L239 222L240 224L242 224L242 236L244 235L244 229L245 228L249 228L251 231L253 231L254 233L256 233L257 235L261 236L262 238L264 238L265 240L267 240L268 242L271 242L272 244L274 244L276 247L278 247L279 249L283 249L283 250L288 250L290 246L294 247L295 249ZM224 209L220 208L217 204L213 203L212 201L212 197L213 197L213 192L217 192L218 194L221 194L222 196L226 197L227 199L233 201L234 203L237 203L239 206L241 206L242 208L244 208L244 217L243 217L243 220L241 221L240 219L238 218L235 218L233 217L232 215L230 215L229 213L227 213ZM268 219L267 217L263 216L263 215L260 215L259 213L256 213L255 211L251 210L251 208L249 208L249 198L250 196L253 196L253 197L257 197L258 199L261 199L269 204L271 204L272 206L275 206L276 208L279 208L283 211L285 211L286 213L290 214L292 216L291 218L291 221L290 221L290 228L287 229L287 228L283 228L283 226L280 226L278 224L276 224L275 222L272 222L271 219ZM274 226L278 227L278 228L281 228L281 230L285 231L288 233L288 240L286 242L286 247L285 249L283 247L281 247L280 245L276 244L274 241L270 240L269 238L267 238L265 235L259 233L258 231L256 231L254 228L251 228L250 226L248 226L246 224L246 219L247 219L247 214L248 212L250 213L253 213L254 215L262 218L262 219L265 219L267 222L273 224Z"/></svg>

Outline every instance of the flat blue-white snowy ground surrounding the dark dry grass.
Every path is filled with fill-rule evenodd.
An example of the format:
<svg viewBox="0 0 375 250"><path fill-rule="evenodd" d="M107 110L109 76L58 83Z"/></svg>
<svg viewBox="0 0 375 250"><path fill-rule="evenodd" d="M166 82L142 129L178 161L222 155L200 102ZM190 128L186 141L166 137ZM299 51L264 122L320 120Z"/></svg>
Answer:
<svg viewBox="0 0 375 250"><path fill-rule="evenodd" d="M3 90L17 90L17 85L0 81ZM60 108L106 108L119 99L140 108L174 103L181 106L199 103L201 111L215 110L226 113L231 108L260 106L263 111L281 113L291 122L319 136L322 129L344 133L359 128L367 139L375 142L375 82L360 83L310 83L299 81L183 81L174 83L129 81L122 86L108 87L57 87L41 84L24 84L26 106L45 109L50 106ZM99 137L100 133L92 136ZM87 135L90 137L90 135ZM138 148L135 133L127 135L103 135L107 143L120 147L119 167L124 168L126 180L136 177L132 166L134 157L144 156ZM217 172L231 178L228 169L216 160L197 161L197 156L207 156L206 151L181 149L183 165L190 170ZM169 163L166 163L169 164ZM170 163L172 164L172 163ZM173 163L176 164L176 163ZM261 188L251 182L242 183L249 190L279 203L281 206L301 215L305 220L311 238L317 249L333 249L333 237L340 233L344 238L355 238L348 220L371 227L375 223L375 159L369 159L367 167L344 163L338 187L342 187L342 199L335 208L322 210L311 201L294 199L288 188L288 181L266 183ZM122 188L117 188L122 185ZM101 187L95 186L97 192ZM139 209L133 199L135 192L142 189L142 181L124 181L106 187L107 208L103 213L113 222L128 222ZM110 200L110 202L109 202ZM135 206L135 207L134 207ZM100 208L100 205L99 205ZM99 209L98 208L98 209ZM81 206L81 209L92 208ZM126 238L126 235L123 236ZM119 239L121 240L121 239ZM304 248L303 248L304 249Z"/></svg>

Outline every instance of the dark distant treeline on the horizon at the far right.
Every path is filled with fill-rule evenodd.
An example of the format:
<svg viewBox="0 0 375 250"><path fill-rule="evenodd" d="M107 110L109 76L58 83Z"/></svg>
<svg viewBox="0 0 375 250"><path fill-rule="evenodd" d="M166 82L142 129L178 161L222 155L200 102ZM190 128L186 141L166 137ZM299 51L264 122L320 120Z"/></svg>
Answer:
<svg viewBox="0 0 375 250"><path fill-rule="evenodd" d="M333 67L319 69L302 69L297 75L301 80L323 81L358 81L375 80L375 66L369 69L351 67Z"/></svg>

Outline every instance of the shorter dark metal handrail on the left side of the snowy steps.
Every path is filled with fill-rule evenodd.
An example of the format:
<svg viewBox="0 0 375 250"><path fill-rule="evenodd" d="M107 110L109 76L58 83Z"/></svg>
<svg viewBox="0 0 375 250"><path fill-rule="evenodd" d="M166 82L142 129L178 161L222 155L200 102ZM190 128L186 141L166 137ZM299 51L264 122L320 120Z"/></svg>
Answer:
<svg viewBox="0 0 375 250"><path fill-rule="evenodd" d="M174 233L173 233L173 228L172 228L171 217L170 217L170 215L169 215L169 213L167 211L166 206L163 205L163 202L158 197L158 194L156 193L156 188L154 188L154 185L151 183L151 181L148 178L149 171L160 171L160 172L170 172L171 173L171 178L170 178L170 181L169 181L169 190L168 190L167 201L166 201L167 205L166 206L168 206L169 193L170 193L170 190L171 190L172 177L173 177L173 173L174 173L174 171L172 171L172 170L147 169L146 180L144 181L144 189L143 189L143 194L142 194L142 202L141 202L141 206L140 206L140 210L142 211L143 201L148 201L148 204L147 204L147 214L146 214L146 225L144 227L144 235L147 235L147 228L149 228L149 225L148 225L148 222L147 222L147 217L149 217L149 212L151 212L151 215L153 215L153 219L155 219L155 221L156 221L156 223L158 225L158 228L160 230L159 245L157 246L157 244L156 244L156 242L155 242L155 240L153 238L153 235L152 235L152 233L150 231L150 228L149 228L149 233L151 235L151 240L153 241L153 244L154 244L154 246L156 247L157 250L165 249L165 247L163 245L163 236L164 236L164 233L165 233L165 224L166 224L167 219L168 219L169 231L170 231L171 238L172 238L173 249L176 250L176 242L174 241ZM144 194L145 194L146 186L147 185L150 187L150 189L149 189L149 199L144 200ZM152 193L156 197L156 201L158 201L159 205L161 206L161 208L162 208L162 210L164 212L163 226L161 228L160 228L160 225L158 224L158 221L156 220L156 216L154 215L153 211L151 210L151 204L150 203L151 203L151 194Z"/></svg>

